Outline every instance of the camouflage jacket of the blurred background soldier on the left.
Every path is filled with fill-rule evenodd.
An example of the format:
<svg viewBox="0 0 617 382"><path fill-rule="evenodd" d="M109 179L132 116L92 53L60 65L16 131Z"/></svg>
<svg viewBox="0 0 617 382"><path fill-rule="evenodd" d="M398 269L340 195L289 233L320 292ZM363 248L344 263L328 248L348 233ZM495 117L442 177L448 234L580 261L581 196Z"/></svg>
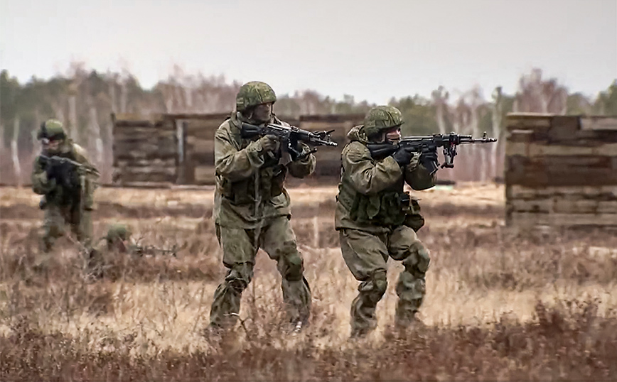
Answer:
<svg viewBox="0 0 617 382"><path fill-rule="evenodd" d="M44 153L45 156L59 156L60 158L69 158L70 160L75 160L75 162L82 163L91 168L94 168L90 160L88 160L86 151L81 146L73 143L70 139L67 139L62 146L60 146L59 153L48 154ZM71 204L71 200L75 200L75 195L70 194L70 190L65 190L59 182L55 179L48 179L47 173L45 171L46 164L42 160L40 155L38 155L32 166L32 190L39 195L44 195L44 202L42 205L68 205ZM83 187L83 207L84 209L92 209L94 204L94 191L97 187L97 176L92 174L83 174L78 173L80 178L80 186Z"/></svg>

